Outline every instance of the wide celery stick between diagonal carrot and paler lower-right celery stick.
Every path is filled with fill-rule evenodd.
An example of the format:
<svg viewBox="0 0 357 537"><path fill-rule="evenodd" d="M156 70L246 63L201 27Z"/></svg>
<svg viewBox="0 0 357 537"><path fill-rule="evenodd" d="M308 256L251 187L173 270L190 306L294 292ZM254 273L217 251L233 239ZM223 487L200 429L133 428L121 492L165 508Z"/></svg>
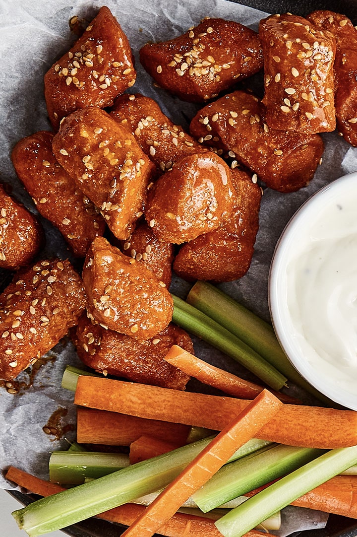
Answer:
<svg viewBox="0 0 357 537"><path fill-rule="evenodd" d="M322 449L280 444L268 451L247 455L223 466L192 495L192 499L202 511L210 511L295 470L321 453ZM276 509L278 510L279 508Z"/></svg>

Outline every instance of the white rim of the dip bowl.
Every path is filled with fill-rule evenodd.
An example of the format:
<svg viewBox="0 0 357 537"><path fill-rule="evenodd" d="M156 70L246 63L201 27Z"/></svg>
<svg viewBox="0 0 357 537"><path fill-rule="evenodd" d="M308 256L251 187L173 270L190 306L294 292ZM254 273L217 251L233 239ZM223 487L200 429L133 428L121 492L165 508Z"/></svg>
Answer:
<svg viewBox="0 0 357 537"><path fill-rule="evenodd" d="M341 390L333 383L326 383L325 378L319 376L317 369L314 369L308 364L308 361L302 357L298 347L294 343L294 338L288 336L286 323L282 320L282 296L279 292L279 282L283 269L286 268L289 262L289 257L285 252L299 233L299 227L302 219L305 218L307 212L310 212L315 206L320 206L320 200L332 195L334 191L339 189L341 185L346 187L350 182L357 182L357 171L347 173L331 183L323 186L312 194L303 204L297 209L293 216L289 219L286 226L275 244L271 264L268 274L268 307L271 315L271 320L276 337L285 352L290 363L295 367L296 371L307 381L314 386L320 393L329 397L344 407L352 410L357 410L357 394L345 390ZM301 228L300 228L301 229Z"/></svg>

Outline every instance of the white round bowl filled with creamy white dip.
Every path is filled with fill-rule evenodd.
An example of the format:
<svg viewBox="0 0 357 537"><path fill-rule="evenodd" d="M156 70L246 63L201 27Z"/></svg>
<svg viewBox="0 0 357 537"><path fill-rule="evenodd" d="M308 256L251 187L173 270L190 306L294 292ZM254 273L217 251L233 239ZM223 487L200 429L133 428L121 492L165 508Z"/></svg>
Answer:
<svg viewBox="0 0 357 537"><path fill-rule="evenodd" d="M288 224L269 299L278 338L298 371L357 409L357 173L325 187Z"/></svg>

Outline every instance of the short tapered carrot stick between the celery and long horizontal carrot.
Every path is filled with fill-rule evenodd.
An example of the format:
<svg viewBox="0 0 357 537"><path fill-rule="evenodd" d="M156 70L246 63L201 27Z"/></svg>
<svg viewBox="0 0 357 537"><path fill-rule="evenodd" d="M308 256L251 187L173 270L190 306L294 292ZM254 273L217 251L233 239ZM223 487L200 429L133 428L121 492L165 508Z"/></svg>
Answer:
<svg viewBox="0 0 357 537"><path fill-rule="evenodd" d="M241 379L237 375L233 375L224 369L215 367L207 362L200 360L190 352L181 349L178 345L172 345L171 349L165 356L166 362L181 369L184 373L194 376L203 384L213 386L218 390L224 391L226 394L242 399L253 399L264 389L259 384L254 384L247 380ZM270 390L283 403L300 404L294 397L281 394L279 391Z"/></svg>

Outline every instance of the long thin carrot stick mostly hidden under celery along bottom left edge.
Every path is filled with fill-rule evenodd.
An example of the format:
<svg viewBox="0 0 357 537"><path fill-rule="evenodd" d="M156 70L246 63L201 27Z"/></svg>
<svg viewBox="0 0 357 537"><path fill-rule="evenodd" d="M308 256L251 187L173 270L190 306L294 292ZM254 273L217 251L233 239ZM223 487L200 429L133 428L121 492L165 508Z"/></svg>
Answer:
<svg viewBox="0 0 357 537"><path fill-rule="evenodd" d="M10 466L5 477L9 481L19 485L19 487L24 487L40 496L50 496L56 494L56 492L65 490L56 483L39 479L14 466ZM99 514L97 518L130 526L143 511L145 511L144 505L125 504ZM160 528L160 531L162 535L166 535L167 537L187 537L190 534L196 537L222 537L222 534L218 532L218 529L214 525L214 520L185 513L175 514L167 524ZM253 530L248 532L244 537L273 537L273 535Z"/></svg>

